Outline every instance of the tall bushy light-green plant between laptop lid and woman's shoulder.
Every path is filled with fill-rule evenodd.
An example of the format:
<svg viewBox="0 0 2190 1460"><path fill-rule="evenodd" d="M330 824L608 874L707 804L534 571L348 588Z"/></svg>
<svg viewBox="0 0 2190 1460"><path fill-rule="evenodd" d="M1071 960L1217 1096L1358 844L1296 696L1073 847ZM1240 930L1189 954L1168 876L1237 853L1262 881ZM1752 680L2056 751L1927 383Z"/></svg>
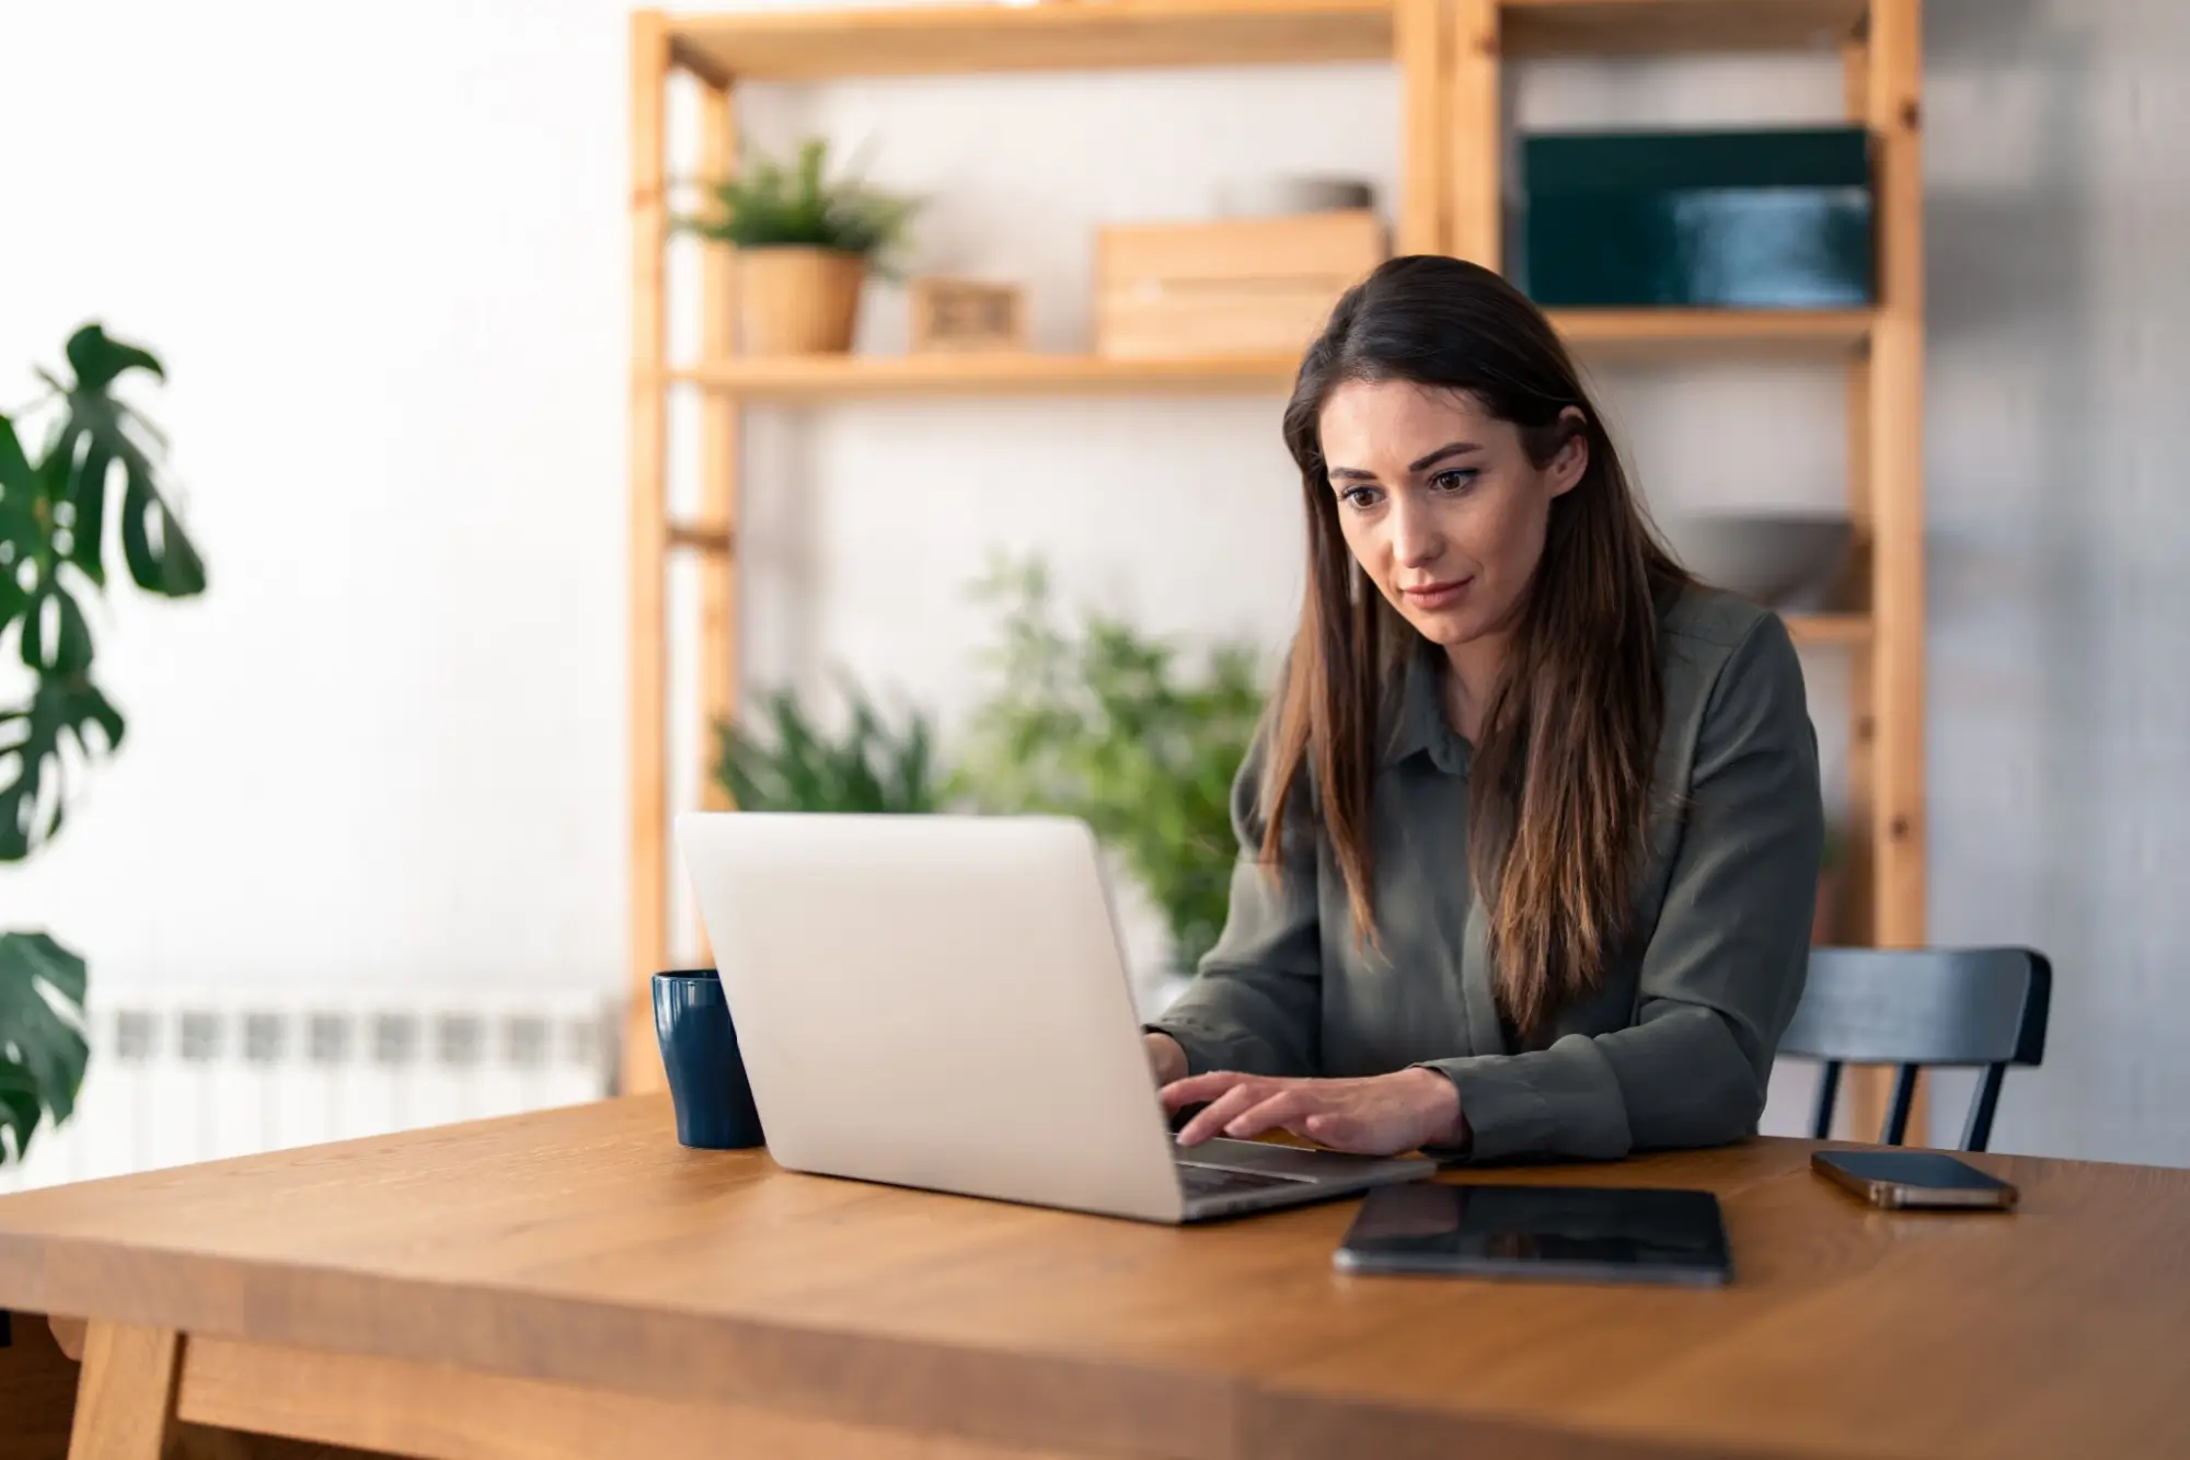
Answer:
<svg viewBox="0 0 2190 1460"><path fill-rule="evenodd" d="M990 811L1088 822L1161 908L1174 965L1191 967L1231 899L1231 783L1261 717L1257 653L1220 645L1191 666L1117 618L1067 629L1040 563L1005 563L981 592L1003 605L1001 677L972 717L966 789Z"/></svg>

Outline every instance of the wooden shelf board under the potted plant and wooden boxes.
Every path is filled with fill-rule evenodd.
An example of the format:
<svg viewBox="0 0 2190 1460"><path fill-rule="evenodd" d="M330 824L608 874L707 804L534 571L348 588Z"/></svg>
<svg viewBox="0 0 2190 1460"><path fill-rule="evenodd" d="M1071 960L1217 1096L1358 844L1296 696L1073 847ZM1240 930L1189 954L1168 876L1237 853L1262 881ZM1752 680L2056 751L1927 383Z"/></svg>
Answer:
<svg viewBox="0 0 2190 1460"><path fill-rule="evenodd" d="M670 379L771 401L900 395L1283 395L1299 364L1296 355L751 355L672 370Z"/></svg>

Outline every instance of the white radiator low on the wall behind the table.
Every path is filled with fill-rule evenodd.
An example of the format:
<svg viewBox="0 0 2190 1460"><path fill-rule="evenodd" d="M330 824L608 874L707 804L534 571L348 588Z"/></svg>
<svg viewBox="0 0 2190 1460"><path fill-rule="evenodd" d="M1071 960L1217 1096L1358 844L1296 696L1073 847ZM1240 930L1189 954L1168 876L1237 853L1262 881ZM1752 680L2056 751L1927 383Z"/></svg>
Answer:
<svg viewBox="0 0 2190 1460"><path fill-rule="evenodd" d="M118 984L92 973L74 1118L0 1190L598 1100L598 991Z"/></svg>

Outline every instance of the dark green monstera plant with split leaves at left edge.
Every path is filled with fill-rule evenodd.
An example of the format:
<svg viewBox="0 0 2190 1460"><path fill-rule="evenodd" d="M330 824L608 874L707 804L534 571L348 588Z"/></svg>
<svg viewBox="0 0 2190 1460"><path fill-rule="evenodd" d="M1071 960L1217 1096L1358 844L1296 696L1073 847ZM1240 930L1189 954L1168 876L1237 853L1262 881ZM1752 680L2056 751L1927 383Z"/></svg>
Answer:
<svg viewBox="0 0 2190 1460"><path fill-rule="evenodd" d="M24 671L20 699L0 684L0 862L50 842L72 765L123 743L123 715L92 680L85 612L105 592L110 535L145 592L206 590L206 566L162 484L164 438L116 395L131 370L164 377L160 362L99 324L70 335L66 355L72 379L39 370L50 397L0 414L0 647L13 636ZM33 421L44 430L35 454L24 445ZM74 1109L88 1059L83 991L83 960L55 938L0 934L0 1160L22 1157L46 1118L59 1125Z"/></svg>

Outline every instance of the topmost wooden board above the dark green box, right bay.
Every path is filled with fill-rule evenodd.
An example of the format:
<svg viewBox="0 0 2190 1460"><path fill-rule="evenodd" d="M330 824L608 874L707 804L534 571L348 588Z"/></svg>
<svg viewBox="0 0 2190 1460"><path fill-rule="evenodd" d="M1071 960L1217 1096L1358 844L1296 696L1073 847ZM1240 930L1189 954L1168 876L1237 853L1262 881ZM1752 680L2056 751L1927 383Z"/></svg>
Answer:
<svg viewBox="0 0 2190 1460"><path fill-rule="evenodd" d="M1500 0L1507 55L1802 50L1853 39L1866 0Z"/></svg>

